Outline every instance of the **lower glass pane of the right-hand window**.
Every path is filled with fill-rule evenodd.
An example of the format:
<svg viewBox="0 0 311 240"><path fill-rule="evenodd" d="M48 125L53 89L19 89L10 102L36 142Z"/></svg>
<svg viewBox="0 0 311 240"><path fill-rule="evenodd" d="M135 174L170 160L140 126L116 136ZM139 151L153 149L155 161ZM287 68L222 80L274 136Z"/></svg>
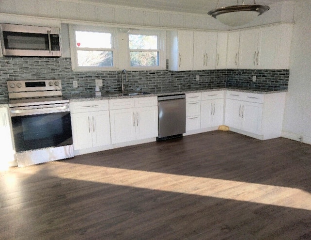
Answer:
<svg viewBox="0 0 311 240"><path fill-rule="evenodd" d="M158 66L158 52L130 52L131 66Z"/></svg>

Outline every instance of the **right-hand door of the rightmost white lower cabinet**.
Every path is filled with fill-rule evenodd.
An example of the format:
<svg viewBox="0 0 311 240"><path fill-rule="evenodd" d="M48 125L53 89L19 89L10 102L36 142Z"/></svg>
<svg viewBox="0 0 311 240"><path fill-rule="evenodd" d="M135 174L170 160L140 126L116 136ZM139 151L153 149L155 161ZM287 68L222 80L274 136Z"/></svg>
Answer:
<svg viewBox="0 0 311 240"><path fill-rule="evenodd" d="M262 104L243 102L242 104L242 129L247 132L260 134L261 132Z"/></svg>

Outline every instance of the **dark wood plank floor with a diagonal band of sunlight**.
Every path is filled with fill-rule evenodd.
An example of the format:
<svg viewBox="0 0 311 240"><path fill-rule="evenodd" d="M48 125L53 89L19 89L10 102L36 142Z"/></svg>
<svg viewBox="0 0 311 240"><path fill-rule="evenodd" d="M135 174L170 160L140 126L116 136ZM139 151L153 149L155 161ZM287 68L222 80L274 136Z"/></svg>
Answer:
<svg viewBox="0 0 311 240"><path fill-rule="evenodd" d="M0 173L1 240L311 240L311 145L213 131Z"/></svg>

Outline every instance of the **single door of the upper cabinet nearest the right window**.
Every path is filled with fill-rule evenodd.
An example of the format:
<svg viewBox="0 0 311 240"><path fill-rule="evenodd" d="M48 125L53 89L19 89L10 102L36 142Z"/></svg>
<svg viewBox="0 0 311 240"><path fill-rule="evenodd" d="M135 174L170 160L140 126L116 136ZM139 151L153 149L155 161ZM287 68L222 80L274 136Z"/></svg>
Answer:
<svg viewBox="0 0 311 240"><path fill-rule="evenodd" d="M193 68L193 32L178 31L178 70L192 70Z"/></svg>

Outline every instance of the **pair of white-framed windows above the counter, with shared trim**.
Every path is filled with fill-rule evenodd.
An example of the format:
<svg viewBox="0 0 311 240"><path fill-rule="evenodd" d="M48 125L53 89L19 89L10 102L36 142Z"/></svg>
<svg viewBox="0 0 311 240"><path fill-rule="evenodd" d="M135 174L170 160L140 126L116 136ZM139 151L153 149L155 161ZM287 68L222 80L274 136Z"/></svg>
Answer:
<svg viewBox="0 0 311 240"><path fill-rule="evenodd" d="M111 71L166 68L165 31L69 24L72 69Z"/></svg>

